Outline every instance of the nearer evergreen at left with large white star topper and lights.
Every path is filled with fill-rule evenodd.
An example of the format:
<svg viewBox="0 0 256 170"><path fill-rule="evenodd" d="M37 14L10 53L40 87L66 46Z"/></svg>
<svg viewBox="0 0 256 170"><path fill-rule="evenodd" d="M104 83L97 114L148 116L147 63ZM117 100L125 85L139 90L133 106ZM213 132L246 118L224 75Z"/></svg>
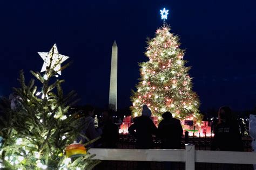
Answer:
<svg viewBox="0 0 256 170"><path fill-rule="evenodd" d="M32 75L42 84L35 86L35 80L25 82L23 71L20 72L21 88L14 88L10 100L3 100L0 135L3 137L1 158L7 169L90 169L98 161L86 153L81 144L73 144L79 136L77 114L69 114L69 107L76 96L74 91L63 94L57 74L69 66L62 62L68 56L60 55L54 45L49 53L39 53L44 60L41 72ZM9 107L6 107L9 106ZM75 146L79 145L79 148ZM76 154L65 148L75 148ZM78 154L82 153L82 154Z"/></svg>

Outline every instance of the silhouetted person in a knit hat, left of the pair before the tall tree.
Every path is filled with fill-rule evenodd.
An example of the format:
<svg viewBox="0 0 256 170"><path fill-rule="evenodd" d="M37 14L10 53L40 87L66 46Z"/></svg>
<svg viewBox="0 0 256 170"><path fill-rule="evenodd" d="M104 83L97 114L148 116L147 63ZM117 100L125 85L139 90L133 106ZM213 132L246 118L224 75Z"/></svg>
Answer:
<svg viewBox="0 0 256 170"><path fill-rule="evenodd" d="M136 148L149 149L153 147L152 134L156 134L157 128L150 119L151 110L143 105L142 116L134 117L133 124L129 127L129 133L136 140Z"/></svg>

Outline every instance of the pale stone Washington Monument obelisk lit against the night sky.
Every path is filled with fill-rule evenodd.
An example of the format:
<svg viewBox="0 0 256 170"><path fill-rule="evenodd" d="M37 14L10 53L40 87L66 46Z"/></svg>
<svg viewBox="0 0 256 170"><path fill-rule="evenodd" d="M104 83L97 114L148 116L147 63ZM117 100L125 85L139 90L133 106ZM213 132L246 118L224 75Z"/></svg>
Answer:
<svg viewBox="0 0 256 170"><path fill-rule="evenodd" d="M114 40L112 45L110 88L109 88L109 107L117 111L117 42Z"/></svg>

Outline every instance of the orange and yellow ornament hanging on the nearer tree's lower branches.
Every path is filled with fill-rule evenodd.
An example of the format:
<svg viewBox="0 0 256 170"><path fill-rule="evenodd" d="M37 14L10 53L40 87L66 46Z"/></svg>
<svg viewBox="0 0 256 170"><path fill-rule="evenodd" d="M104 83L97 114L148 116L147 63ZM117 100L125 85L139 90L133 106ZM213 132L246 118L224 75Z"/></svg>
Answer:
<svg viewBox="0 0 256 170"><path fill-rule="evenodd" d="M86 154L86 148L83 144L77 143L74 141L73 144L65 148L67 157L79 157L80 155Z"/></svg>

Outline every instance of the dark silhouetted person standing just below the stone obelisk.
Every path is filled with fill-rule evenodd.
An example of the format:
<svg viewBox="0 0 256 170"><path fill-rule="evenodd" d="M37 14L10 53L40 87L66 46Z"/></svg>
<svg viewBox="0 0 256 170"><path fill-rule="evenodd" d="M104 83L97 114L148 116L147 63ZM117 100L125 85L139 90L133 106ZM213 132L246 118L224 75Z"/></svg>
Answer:
<svg viewBox="0 0 256 170"><path fill-rule="evenodd" d="M113 123L113 111L104 111L102 114L102 148L117 148L119 139L118 126Z"/></svg>

